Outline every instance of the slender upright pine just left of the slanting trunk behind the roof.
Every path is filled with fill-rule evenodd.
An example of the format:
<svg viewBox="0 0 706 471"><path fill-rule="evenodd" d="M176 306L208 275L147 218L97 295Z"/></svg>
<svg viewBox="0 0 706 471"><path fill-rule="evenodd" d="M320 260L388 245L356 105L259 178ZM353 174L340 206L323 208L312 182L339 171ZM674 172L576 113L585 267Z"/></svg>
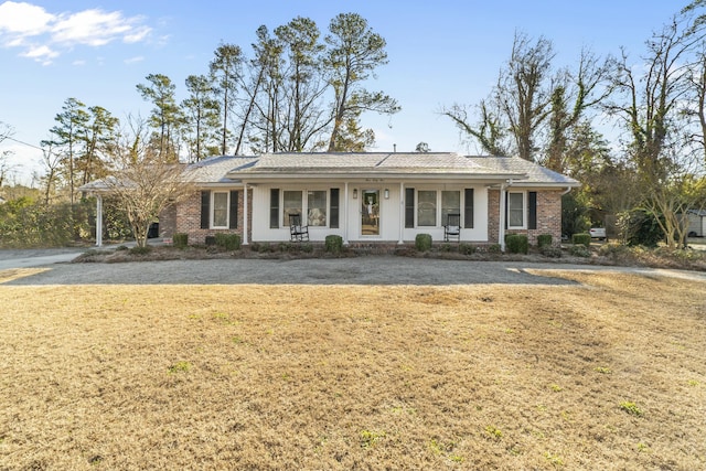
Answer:
<svg viewBox="0 0 706 471"><path fill-rule="evenodd" d="M211 61L211 77L215 82L215 92L221 98L222 128L221 153L227 154L228 150L228 117L233 113L238 92L238 83L242 79L243 51L236 44L222 43L214 52ZM237 154L239 149L235 150Z"/></svg>

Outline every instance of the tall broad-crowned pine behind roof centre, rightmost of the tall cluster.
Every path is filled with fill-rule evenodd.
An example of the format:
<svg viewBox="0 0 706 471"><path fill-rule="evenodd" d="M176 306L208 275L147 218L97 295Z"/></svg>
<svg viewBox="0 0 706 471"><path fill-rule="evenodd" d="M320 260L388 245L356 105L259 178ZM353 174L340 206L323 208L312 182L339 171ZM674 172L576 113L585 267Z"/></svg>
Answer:
<svg viewBox="0 0 706 471"><path fill-rule="evenodd" d="M336 15L329 25L325 42L329 50L323 64L334 92L329 152L346 151L350 148L344 146L350 146L351 138L367 138L370 141L371 130L351 132L359 128L357 121L363 111L394 114L400 108L383 92L368 92L363 87L375 68L387 63L385 40L368 26L364 18L357 13ZM340 139L346 130L345 139ZM353 147L360 147L360 143L364 142L359 141Z"/></svg>

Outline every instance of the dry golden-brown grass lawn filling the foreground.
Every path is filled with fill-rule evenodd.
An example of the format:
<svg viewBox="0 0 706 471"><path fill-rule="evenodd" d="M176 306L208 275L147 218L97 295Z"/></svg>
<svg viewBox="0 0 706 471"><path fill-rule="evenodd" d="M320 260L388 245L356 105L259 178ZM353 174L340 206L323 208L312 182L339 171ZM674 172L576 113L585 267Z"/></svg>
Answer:
<svg viewBox="0 0 706 471"><path fill-rule="evenodd" d="M553 275L0 286L0 469L706 468L706 286Z"/></svg>

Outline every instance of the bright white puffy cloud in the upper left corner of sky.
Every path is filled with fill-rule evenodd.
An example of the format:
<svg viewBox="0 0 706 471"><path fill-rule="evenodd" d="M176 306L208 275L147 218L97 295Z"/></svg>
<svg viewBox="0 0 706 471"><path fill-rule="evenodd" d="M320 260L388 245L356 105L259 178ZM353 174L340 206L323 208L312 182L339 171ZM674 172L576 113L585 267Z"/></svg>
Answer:
<svg viewBox="0 0 706 471"><path fill-rule="evenodd" d="M46 61L76 45L99 47L113 41L146 41L152 29L143 17L100 9L51 13L25 2L0 3L0 46L19 47L21 56Z"/></svg>

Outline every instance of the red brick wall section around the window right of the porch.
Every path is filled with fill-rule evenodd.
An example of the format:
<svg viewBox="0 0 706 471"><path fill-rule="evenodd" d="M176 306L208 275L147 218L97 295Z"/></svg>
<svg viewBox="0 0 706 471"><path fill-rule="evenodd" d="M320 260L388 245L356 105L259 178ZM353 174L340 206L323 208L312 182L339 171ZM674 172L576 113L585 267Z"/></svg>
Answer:
<svg viewBox="0 0 706 471"><path fill-rule="evenodd" d="M500 190L488 191L488 235L490 243L498 243L500 231ZM506 234L526 234L531 245L537 244L537 236L552 234L552 244L561 243L561 192L537 192L537 228L506 229Z"/></svg>

